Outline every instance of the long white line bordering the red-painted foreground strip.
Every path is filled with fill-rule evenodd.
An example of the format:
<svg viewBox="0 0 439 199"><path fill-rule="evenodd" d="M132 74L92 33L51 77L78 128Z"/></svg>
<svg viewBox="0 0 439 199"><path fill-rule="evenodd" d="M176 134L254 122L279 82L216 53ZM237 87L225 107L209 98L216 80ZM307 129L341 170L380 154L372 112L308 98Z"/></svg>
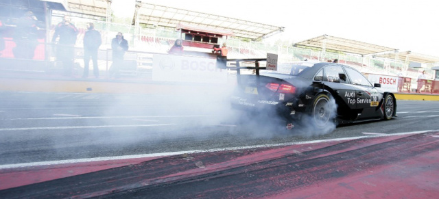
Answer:
<svg viewBox="0 0 439 199"><path fill-rule="evenodd" d="M243 150L243 149L249 149L249 148L262 148L262 147L275 147L275 146L290 146L290 145L297 145L297 144L337 142L337 141L363 139L366 137L388 137L388 136L394 136L394 135L411 135L411 134L437 132L437 131L439 131L439 129L428 130L428 131L412 131L412 132L405 132L405 133L393 133L393 134L385 134L385 135L344 137L344 138L336 138L336 139L330 139L330 140L312 140L312 141L306 141L306 142L288 142L288 143L281 143L281 144L263 144L263 145L255 145L255 146L213 148L213 149L209 149L209 150L186 150L186 151L160 152L160 153L151 153L151 154L142 154L142 155L123 155L123 156L113 156L113 157L95 157L95 158L83 158L83 159L67 159L67 160L59 160L59 161L40 161L40 162L32 162L32 163L17 163L17 164L0 165L0 170L10 169L10 168L24 168L24 167L31 167L31 166L41 166L41 165L58 165L58 164L63 164L63 163L84 163L84 162L108 161L108 160L117 160L117 159L161 157L161 156L182 155L182 154L200 153L200 152L217 152L217 151L224 151L224 150Z"/></svg>

